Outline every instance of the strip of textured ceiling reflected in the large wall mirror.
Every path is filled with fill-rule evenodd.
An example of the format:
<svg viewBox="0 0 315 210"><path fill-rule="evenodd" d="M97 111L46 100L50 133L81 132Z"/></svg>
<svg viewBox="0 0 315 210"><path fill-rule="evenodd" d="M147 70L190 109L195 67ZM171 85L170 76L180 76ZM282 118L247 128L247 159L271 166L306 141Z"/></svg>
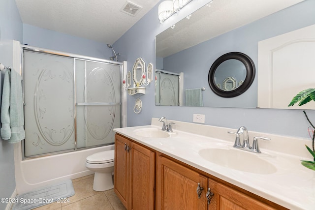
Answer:
<svg viewBox="0 0 315 210"><path fill-rule="evenodd" d="M188 19L158 34L156 55L165 58L303 0L213 0ZM270 30L266 26L266 30ZM248 31L255 33L255 31ZM244 37L246 38L246 37Z"/></svg>

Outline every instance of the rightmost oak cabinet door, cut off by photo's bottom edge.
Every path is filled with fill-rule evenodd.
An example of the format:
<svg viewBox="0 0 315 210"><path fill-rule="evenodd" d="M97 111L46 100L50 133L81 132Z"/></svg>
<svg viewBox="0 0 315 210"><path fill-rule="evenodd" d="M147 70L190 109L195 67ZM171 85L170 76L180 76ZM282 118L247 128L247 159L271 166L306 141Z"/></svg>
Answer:
<svg viewBox="0 0 315 210"><path fill-rule="evenodd" d="M208 186L214 194L209 210L276 210L276 208L214 180L209 179Z"/></svg>

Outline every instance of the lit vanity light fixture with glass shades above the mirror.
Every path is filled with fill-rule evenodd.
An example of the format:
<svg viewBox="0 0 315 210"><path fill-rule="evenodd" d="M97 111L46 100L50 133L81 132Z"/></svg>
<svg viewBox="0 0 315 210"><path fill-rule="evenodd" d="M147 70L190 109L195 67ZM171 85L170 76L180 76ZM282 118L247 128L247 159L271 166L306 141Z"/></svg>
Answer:
<svg viewBox="0 0 315 210"><path fill-rule="evenodd" d="M164 0L158 5L158 19L163 23L192 0Z"/></svg>

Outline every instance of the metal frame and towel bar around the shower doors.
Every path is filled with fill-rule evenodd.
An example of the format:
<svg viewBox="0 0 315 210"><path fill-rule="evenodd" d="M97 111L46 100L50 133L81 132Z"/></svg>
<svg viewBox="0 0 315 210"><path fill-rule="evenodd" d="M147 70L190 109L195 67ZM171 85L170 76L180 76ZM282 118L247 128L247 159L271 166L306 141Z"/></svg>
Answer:
<svg viewBox="0 0 315 210"><path fill-rule="evenodd" d="M79 151L79 150L86 150L90 148L96 148L96 147L102 147L106 145L112 145L114 143L110 144L102 144L102 145L95 145L95 146L89 146L89 147L84 147L84 148L77 148L77 122L76 122L76 106L77 105L84 105L82 103L77 103L76 100L76 60L84 60L84 61L92 61L92 62L100 62L100 63L106 63L106 64L111 64L111 65L117 65L120 66L120 80L123 78L124 71L126 71L126 68L124 68L124 65L126 65L126 61L124 62L119 62L119 61L113 61L113 60L105 60L105 59L98 59L98 58L93 58L93 57L88 57L88 56L82 56L82 55L77 55L77 54L71 54L71 53L64 53L61 51L54 51L54 50L48 50L48 49L43 49L43 48L37 48L29 45L21 45L21 66L20 66L20 72L22 76L22 92L23 92L23 104L25 105L24 101L24 51L29 51L29 52L34 52L34 53L42 53L42 54L47 54L47 55L54 55L54 56L60 56L60 57L65 57L65 58L71 58L73 59L73 102L74 102L74 149L70 150L62 150L62 151L54 151L54 152L49 152L49 153L44 153L44 154L38 154L38 155L31 155L31 156L25 156L25 140L22 141L22 160L27 160L27 159L32 159L32 158L37 158L37 157L43 157L43 156L50 156L50 155L55 155L55 154L61 154L61 153L66 153L66 152L72 152L72 151ZM120 119L120 127L122 127L124 124L123 118L123 106L126 106L126 96L124 96L125 93L123 91L123 88L120 86L120 113L121 113L121 119ZM86 103L88 105L88 103ZM92 105L92 104L91 104ZM98 105L118 105L118 104L111 104L111 103L102 103ZM25 119L24 119L25 120Z"/></svg>

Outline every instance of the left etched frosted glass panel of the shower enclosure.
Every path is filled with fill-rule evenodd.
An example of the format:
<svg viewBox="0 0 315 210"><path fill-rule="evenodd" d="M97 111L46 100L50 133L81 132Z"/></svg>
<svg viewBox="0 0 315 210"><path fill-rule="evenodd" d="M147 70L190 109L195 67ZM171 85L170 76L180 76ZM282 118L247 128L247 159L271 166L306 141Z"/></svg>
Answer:
<svg viewBox="0 0 315 210"><path fill-rule="evenodd" d="M74 149L73 59L24 51L25 156Z"/></svg>

